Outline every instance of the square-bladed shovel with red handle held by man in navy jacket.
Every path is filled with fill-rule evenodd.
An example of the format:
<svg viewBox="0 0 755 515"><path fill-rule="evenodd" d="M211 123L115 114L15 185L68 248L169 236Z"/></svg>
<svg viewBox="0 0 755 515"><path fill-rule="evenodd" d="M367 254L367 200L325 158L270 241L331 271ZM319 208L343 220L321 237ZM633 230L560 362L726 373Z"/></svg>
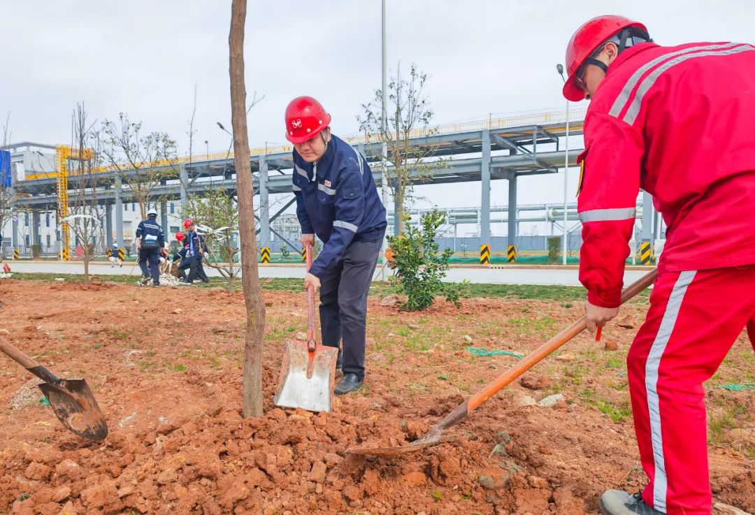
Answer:
<svg viewBox="0 0 755 515"><path fill-rule="evenodd" d="M307 271L312 267L312 244L307 242ZM285 342L276 406L301 408L310 412L333 409L337 347L315 341L315 289L307 288L307 342Z"/></svg>

